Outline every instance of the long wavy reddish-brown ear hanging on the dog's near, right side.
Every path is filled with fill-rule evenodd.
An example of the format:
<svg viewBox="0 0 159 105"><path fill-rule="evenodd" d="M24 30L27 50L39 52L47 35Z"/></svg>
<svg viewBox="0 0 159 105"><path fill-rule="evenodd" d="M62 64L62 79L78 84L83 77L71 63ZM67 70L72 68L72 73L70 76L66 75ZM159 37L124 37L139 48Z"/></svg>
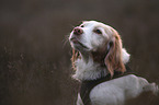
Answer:
<svg viewBox="0 0 159 105"><path fill-rule="evenodd" d="M122 60L122 39L118 33L113 30L113 37L107 44L107 55L105 57L105 66L113 77L114 70L125 72L125 66Z"/></svg>

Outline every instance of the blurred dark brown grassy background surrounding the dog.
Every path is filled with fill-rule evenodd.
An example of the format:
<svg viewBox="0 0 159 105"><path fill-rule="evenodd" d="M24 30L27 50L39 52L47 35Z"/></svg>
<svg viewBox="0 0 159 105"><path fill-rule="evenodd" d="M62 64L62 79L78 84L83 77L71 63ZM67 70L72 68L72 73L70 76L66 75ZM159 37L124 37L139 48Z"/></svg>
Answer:
<svg viewBox="0 0 159 105"><path fill-rule="evenodd" d="M83 20L116 28L130 68L159 84L159 0L0 0L0 105L75 105L67 38Z"/></svg>

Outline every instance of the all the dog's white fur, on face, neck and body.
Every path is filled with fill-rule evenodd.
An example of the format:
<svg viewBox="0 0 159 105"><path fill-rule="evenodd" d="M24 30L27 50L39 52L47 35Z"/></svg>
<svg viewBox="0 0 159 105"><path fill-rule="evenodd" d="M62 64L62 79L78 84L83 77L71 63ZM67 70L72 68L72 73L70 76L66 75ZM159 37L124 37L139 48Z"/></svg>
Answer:
<svg viewBox="0 0 159 105"><path fill-rule="evenodd" d="M76 60L77 71L73 78L77 80L94 80L107 74L107 70L94 62L90 56L90 51L96 50L104 42L107 42L112 36L111 26L95 21L83 22L84 27L80 27L83 33L79 36L73 35L73 31L70 33L70 44L72 48L80 52L81 58ZM94 28L99 28L102 34L98 35L93 32ZM76 37L81 45L71 42L71 38ZM125 48L122 48L122 61L127 63L129 61L129 54ZM124 105L125 101L138 96L146 91L152 91L155 94L158 92L158 86L155 83L148 83L144 78L136 77L134 74L113 79L94 86L90 92L90 100L92 105ZM78 94L77 105L83 105L80 94Z"/></svg>

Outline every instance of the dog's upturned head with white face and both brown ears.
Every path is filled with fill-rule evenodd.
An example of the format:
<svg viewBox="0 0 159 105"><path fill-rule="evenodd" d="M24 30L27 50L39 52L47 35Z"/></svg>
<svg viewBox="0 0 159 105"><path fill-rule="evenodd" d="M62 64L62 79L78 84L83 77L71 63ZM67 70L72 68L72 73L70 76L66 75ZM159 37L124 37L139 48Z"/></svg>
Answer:
<svg viewBox="0 0 159 105"><path fill-rule="evenodd" d="M89 56L93 61L106 66L113 75L114 70L125 71L129 54L122 47L118 33L111 26L96 21L84 21L75 27L69 36L72 47L72 65L77 58Z"/></svg>

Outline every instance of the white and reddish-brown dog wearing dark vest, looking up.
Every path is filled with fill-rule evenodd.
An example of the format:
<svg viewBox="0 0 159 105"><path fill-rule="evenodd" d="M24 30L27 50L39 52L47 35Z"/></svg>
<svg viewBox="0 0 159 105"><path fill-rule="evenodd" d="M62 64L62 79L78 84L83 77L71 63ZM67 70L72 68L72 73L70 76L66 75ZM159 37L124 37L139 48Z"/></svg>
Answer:
<svg viewBox="0 0 159 105"><path fill-rule="evenodd" d="M156 83L132 73L124 74L130 55L113 27L83 21L72 30L69 42L76 70L72 78L82 85L77 105L124 105L144 92L158 93Z"/></svg>

